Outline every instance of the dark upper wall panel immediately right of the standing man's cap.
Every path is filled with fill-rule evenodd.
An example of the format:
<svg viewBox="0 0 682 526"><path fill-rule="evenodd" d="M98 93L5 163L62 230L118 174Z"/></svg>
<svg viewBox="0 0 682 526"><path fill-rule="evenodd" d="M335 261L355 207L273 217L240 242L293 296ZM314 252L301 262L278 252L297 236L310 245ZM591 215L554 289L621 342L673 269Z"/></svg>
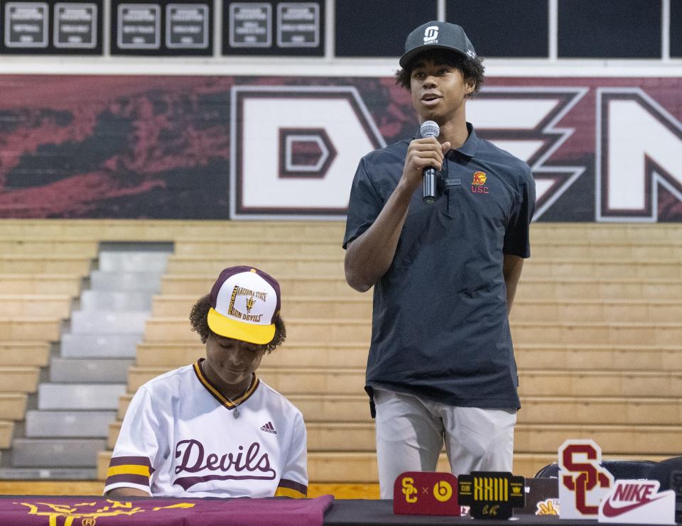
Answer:
<svg viewBox="0 0 682 526"><path fill-rule="evenodd" d="M448 0L445 19L464 28L482 57L546 58L547 4L547 0Z"/></svg>

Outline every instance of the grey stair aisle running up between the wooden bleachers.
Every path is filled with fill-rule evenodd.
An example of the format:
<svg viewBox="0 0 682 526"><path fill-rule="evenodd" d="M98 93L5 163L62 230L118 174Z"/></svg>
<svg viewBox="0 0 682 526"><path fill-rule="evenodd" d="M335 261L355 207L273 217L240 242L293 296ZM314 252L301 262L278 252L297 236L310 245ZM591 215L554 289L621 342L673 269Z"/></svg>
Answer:
<svg viewBox="0 0 682 526"><path fill-rule="evenodd" d="M93 245L98 246L99 240ZM168 243L140 246L140 250L138 246L102 243L99 270L90 273L90 290L79 298L80 308L67 316L67 331L53 335L34 327L34 334L39 331L45 338L61 336L60 356L51 360L49 381L38 385L37 409L26 413L23 437L13 441L12 468L7 469L5 461L0 473L83 476L95 466L125 393L131 358L144 333L151 295L158 292L170 248ZM0 276L0 284L1 280ZM1 329L0 322L0 336Z"/></svg>

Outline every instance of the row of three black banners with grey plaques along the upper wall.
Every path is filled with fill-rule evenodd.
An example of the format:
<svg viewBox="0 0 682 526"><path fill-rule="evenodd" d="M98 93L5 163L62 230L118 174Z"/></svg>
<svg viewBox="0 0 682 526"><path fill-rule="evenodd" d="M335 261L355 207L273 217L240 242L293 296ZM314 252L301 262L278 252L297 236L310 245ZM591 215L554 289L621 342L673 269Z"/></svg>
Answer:
<svg viewBox="0 0 682 526"><path fill-rule="evenodd" d="M104 9L108 16L104 17ZM213 0L0 0L0 53L213 55ZM222 2L223 55L324 55L324 1Z"/></svg>

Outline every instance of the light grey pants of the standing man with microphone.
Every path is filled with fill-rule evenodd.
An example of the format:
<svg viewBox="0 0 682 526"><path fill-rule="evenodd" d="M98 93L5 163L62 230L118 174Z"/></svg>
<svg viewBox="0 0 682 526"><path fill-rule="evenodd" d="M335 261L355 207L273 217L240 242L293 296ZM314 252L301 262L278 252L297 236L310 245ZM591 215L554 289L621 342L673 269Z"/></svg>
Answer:
<svg viewBox="0 0 682 526"><path fill-rule="evenodd" d="M381 498L404 471L435 471L443 448L450 471L510 471L516 410L455 407L374 389Z"/></svg>

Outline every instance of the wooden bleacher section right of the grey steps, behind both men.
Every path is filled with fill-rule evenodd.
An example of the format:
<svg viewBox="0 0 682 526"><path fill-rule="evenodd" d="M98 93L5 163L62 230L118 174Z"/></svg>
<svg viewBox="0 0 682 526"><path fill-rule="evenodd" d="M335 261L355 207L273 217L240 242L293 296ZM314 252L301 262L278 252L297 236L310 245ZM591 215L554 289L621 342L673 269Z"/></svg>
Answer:
<svg viewBox="0 0 682 526"><path fill-rule="evenodd" d="M249 233L220 240L175 239L119 419L139 385L202 356L188 328L190 307L222 268L248 262L281 281L288 340L259 373L303 410L311 481L375 482L374 428L362 390L371 294L345 283L342 225L306 224L304 236L285 224L276 236L261 231L259 243L248 241L257 227L245 226ZM556 460L567 438L595 439L605 458L675 454L682 229L536 224L533 238L511 316L524 405L514 472L532 476ZM118 429L112 424L109 447ZM100 474L107 463L102 454ZM447 466L444 458L439 466Z"/></svg>

